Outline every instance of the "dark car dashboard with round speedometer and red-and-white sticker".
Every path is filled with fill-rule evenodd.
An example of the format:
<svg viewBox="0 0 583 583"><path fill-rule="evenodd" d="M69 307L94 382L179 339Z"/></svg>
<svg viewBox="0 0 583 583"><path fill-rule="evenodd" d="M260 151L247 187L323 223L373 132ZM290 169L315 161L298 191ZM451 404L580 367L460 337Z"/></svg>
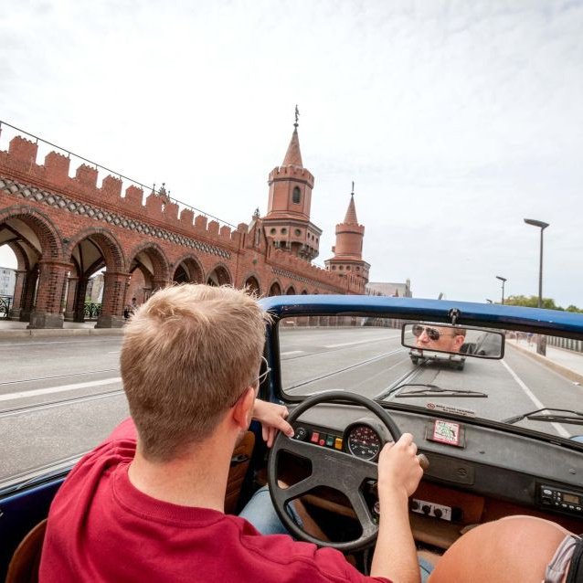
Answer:
<svg viewBox="0 0 583 583"><path fill-rule="evenodd" d="M416 536L427 540L429 532L427 542L446 548L464 525L509 514L538 515L573 532L583 530L583 451L472 419L389 412L429 459L409 503ZM293 439L376 461L391 438L380 421L363 417L366 413L355 406L319 405L294 422Z"/></svg>

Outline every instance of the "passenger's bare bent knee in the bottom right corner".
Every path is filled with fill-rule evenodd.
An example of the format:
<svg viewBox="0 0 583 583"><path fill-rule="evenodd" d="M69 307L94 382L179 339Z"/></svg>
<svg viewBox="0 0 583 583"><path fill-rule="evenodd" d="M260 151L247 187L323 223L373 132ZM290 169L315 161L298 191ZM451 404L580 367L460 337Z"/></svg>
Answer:
<svg viewBox="0 0 583 583"><path fill-rule="evenodd" d="M429 583L540 583L568 534L534 516L508 516L476 526L440 558Z"/></svg>

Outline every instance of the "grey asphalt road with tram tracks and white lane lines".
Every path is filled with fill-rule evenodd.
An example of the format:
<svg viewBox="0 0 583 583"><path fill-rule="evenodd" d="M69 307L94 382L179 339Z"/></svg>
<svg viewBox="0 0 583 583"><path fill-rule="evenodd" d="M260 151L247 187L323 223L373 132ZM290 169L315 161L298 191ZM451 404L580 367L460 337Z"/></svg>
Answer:
<svg viewBox="0 0 583 583"><path fill-rule="evenodd" d="M467 359L462 371L414 366L390 328L281 330L282 383L292 395L344 389L427 407L464 408L505 419L541 407L578 408L583 387L507 348L503 361ZM0 341L0 482L89 451L128 415L119 372L120 336ZM399 387L401 385L408 385ZM437 393L433 385L486 397ZM568 437L583 427L520 421Z"/></svg>

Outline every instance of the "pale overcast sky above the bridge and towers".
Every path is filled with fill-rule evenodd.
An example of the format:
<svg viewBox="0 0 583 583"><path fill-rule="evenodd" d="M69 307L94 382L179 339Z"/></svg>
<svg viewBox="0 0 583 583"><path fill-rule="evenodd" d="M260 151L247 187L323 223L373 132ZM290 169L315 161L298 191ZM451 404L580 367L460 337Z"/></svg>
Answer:
<svg viewBox="0 0 583 583"><path fill-rule="evenodd" d="M298 103L316 263L354 180L371 281L536 294L532 217L583 307L582 31L582 1L0 2L0 119L236 225Z"/></svg>

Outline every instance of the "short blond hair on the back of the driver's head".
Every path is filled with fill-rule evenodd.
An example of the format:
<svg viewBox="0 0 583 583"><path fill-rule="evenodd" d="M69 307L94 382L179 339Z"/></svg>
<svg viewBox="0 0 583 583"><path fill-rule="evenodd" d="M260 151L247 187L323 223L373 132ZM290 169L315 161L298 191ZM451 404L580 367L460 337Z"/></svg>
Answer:
<svg viewBox="0 0 583 583"><path fill-rule="evenodd" d="M194 284L156 292L136 311L122 381L146 459L172 459L213 432L258 376L268 318L244 290Z"/></svg>

